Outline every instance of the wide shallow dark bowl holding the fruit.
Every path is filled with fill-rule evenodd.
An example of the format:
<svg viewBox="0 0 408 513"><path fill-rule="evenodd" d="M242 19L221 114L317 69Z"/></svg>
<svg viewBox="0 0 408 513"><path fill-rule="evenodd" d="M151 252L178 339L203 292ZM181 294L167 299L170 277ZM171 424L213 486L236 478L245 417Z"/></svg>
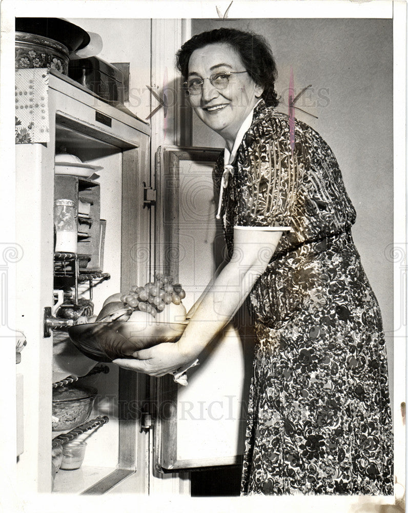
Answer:
<svg viewBox="0 0 408 513"><path fill-rule="evenodd" d="M78 324L68 330L74 345L97 362L131 358L139 349L176 342L187 322L112 321Z"/></svg>

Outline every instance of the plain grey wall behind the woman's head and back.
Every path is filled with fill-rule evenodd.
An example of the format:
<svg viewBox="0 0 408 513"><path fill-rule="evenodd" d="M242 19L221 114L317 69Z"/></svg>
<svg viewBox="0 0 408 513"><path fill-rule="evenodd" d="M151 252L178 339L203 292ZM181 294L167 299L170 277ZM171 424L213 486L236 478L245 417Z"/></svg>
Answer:
<svg viewBox="0 0 408 513"><path fill-rule="evenodd" d="M291 67L295 94L312 85L296 105L318 119L299 110L295 115L333 149L357 210L353 237L382 310L393 384L392 19L194 19L192 33L221 26L267 38L279 74L279 111L288 112ZM223 147L195 115L192 142Z"/></svg>

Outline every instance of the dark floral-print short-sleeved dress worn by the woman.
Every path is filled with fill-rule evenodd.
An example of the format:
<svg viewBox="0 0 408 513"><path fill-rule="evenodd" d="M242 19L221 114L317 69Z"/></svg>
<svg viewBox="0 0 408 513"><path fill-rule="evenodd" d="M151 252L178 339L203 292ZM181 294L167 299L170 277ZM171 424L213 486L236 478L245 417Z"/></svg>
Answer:
<svg viewBox="0 0 408 513"><path fill-rule="evenodd" d="M356 213L319 134L262 101L221 191L233 227L291 226L250 294L257 336L242 494L393 494L381 312ZM214 168L220 192L223 159Z"/></svg>

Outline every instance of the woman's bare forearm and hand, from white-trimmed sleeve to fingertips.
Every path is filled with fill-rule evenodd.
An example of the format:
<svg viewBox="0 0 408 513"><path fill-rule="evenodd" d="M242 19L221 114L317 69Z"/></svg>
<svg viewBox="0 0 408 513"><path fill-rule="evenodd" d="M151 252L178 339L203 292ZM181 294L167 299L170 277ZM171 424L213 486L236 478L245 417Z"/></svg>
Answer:
<svg viewBox="0 0 408 513"><path fill-rule="evenodd" d="M279 243L281 231L234 229L231 261L207 289L187 328L176 343L164 343L120 359L121 367L163 376L193 361L230 322L265 271Z"/></svg>

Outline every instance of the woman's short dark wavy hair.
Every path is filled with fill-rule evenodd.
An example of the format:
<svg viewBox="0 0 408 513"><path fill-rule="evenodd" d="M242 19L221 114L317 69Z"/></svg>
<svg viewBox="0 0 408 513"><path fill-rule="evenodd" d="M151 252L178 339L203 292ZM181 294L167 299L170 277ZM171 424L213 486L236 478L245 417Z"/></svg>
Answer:
<svg viewBox="0 0 408 513"><path fill-rule="evenodd" d="M176 67L184 80L187 81L189 61L194 50L214 43L226 43L238 53L252 80L263 87L265 103L276 107L279 102L275 91L278 76L275 59L266 39L252 32L223 27L193 36L176 53Z"/></svg>

